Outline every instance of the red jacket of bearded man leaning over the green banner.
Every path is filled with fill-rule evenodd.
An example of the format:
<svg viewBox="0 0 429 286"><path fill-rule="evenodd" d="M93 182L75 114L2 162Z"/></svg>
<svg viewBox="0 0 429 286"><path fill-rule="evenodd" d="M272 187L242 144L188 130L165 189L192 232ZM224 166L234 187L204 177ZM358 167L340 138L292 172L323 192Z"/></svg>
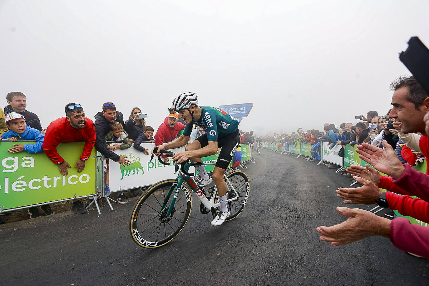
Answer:
<svg viewBox="0 0 429 286"><path fill-rule="evenodd" d="M61 164L64 162L63 157L58 154L57 146L60 143L70 143L85 141L82 155L80 160L86 161L91 156L92 148L95 143L95 129L94 123L86 118L85 128L75 129L70 126L66 117L58 118L49 124L45 133L45 140L43 141L43 150L46 156L54 162L54 164Z"/></svg>

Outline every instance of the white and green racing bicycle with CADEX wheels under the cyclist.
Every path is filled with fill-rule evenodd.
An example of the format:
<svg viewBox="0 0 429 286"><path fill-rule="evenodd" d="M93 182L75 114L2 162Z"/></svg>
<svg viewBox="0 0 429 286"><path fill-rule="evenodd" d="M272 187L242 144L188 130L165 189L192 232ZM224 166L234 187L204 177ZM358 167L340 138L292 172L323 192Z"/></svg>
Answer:
<svg viewBox="0 0 429 286"><path fill-rule="evenodd" d="M157 147L155 147L157 148ZM157 149L154 149L157 153ZM161 154L173 157L175 153L162 151ZM151 160L154 155L152 155ZM169 166L158 156L160 163ZM215 186L207 192L200 189L189 172L190 166L214 165L215 163L181 163L175 164L177 178L163 180L149 187L139 197L133 207L130 217L130 234L133 241L141 247L156 248L163 246L175 238L184 228L192 209L191 190L201 201L199 211L202 214L211 213L213 218L218 215L218 190ZM234 171L224 175L227 185L227 205L230 215L225 219L233 220L245 207L250 192L249 178L242 171ZM206 187L207 188L207 187Z"/></svg>

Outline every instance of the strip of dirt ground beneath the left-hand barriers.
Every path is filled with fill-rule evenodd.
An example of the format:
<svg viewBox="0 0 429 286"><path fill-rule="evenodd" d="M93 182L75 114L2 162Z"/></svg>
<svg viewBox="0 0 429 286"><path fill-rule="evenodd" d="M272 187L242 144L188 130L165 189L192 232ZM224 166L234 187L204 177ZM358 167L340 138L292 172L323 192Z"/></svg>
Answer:
<svg viewBox="0 0 429 286"><path fill-rule="evenodd" d="M124 192L125 196L127 196L128 199L135 197L133 194L131 194L129 191ZM112 195L110 195L110 197L114 200L116 200L118 193L112 193ZM87 205L88 203L88 199L81 199L82 203L85 205ZM72 205L73 205L73 201L67 201L67 202L58 202L55 204L51 204L51 209L53 211L55 211L55 214L59 214L62 213L64 211L71 211L72 209ZM106 200L105 199L100 199L100 203L99 203L99 207L103 207L107 205ZM46 216L45 212L42 211L42 209L39 207L39 214L43 217ZM94 204L92 204L87 211L97 211L97 208L95 208ZM51 214L51 215L55 215L55 214ZM5 223L12 223L15 221L21 221L21 220L30 220L30 215L28 214L28 209L24 208L18 211L12 211L10 214L8 215L3 215L0 214L4 220ZM37 219L37 218L36 218ZM35 219L35 220L36 220Z"/></svg>

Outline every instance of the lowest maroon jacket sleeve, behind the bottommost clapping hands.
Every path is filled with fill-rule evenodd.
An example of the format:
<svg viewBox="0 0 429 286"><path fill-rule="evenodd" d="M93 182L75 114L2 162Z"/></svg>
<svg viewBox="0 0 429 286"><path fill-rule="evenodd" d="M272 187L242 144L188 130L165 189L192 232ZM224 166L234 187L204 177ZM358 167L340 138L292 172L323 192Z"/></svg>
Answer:
<svg viewBox="0 0 429 286"><path fill-rule="evenodd" d="M390 241L400 250L429 258L429 227L411 224L405 217L390 223Z"/></svg>

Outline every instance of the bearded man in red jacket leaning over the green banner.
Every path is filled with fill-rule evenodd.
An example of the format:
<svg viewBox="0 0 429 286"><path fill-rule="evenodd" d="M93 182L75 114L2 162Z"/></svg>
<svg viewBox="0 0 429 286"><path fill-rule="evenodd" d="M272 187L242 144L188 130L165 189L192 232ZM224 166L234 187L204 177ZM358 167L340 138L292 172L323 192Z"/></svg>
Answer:
<svg viewBox="0 0 429 286"><path fill-rule="evenodd" d="M58 154L57 146L60 143L85 141L82 155L77 160L74 168L80 173L85 169L85 163L91 156L92 148L95 144L94 123L85 117L85 113L80 104L69 103L64 108L66 117L58 118L49 124L43 141L43 150L46 156L58 165L60 174L67 176L67 168L71 168L69 163ZM85 207L80 200L73 201L72 211L75 214L86 213Z"/></svg>

